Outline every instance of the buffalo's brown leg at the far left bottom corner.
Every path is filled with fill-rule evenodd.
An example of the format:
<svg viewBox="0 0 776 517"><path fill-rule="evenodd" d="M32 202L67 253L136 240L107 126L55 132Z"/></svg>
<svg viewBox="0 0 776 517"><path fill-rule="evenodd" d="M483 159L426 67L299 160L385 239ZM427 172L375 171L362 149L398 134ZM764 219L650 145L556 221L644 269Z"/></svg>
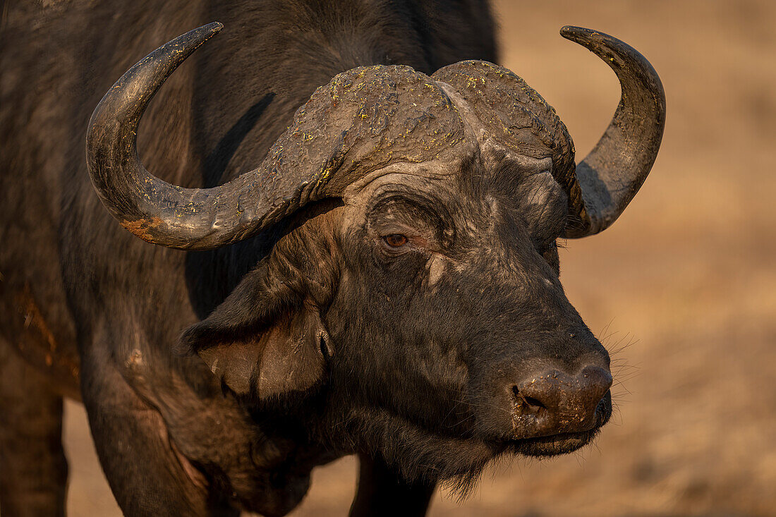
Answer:
<svg viewBox="0 0 776 517"><path fill-rule="evenodd" d="M0 514L64 515L62 397L0 338Z"/></svg>

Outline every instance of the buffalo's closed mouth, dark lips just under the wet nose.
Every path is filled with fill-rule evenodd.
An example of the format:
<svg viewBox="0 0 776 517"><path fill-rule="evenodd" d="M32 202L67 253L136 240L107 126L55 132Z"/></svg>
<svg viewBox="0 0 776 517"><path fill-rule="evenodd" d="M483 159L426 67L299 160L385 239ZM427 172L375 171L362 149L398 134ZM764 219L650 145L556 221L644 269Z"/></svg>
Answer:
<svg viewBox="0 0 776 517"><path fill-rule="evenodd" d="M595 410L595 422L591 429L580 432L559 432L554 435L532 438L508 439L503 445L508 451L522 456L557 456L581 449L601 432L611 418L611 392L608 392Z"/></svg>

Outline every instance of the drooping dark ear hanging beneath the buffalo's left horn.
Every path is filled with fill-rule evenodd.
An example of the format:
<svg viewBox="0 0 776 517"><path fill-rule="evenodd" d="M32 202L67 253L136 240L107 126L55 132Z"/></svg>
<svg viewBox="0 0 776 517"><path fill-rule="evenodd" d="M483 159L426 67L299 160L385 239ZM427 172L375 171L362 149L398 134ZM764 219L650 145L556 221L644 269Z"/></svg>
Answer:
<svg viewBox="0 0 776 517"><path fill-rule="evenodd" d="M182 352L196 352L237 394L268 399L320 382L331 340L317 307L265 265L251 271L205 320L186 330Z"/></svg>

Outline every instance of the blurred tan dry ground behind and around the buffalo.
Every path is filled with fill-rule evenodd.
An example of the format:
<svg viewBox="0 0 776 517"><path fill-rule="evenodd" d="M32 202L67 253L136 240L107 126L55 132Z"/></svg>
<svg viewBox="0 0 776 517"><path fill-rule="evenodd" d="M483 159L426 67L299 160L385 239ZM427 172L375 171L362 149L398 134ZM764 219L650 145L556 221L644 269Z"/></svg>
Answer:
<svg viewBox="0 0 776 517"><path fill-rule="evenodd" d="M568 241L566 292L614 352L615 415L579 453L515 459L431 515L776 515L776 2L500 0L502 63L569 127L577 160L614 113L614 73L563 25L642 52L667 94L653 172L605 233ZM120 515L68 404L70 515ZM314 472L297 517L346 515L355 461Z"/></svg>

